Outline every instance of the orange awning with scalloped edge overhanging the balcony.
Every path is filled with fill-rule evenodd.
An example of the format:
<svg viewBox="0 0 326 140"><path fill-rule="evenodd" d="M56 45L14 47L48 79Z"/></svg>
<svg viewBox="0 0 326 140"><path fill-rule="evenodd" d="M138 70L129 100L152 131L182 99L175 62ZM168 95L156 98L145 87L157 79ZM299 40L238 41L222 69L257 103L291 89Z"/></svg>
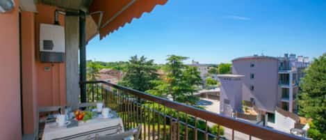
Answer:
<svg viewBox="0 0 326 140"><path fill-rule="evenodd" d="M156 5L163 5L168 0L94 0L90 5L89 12L100 14L92 14L93 20L97 23L100 39L109 33L113 33L130 23L133 18L141 17L142 13L150 13Z"/></svg>

